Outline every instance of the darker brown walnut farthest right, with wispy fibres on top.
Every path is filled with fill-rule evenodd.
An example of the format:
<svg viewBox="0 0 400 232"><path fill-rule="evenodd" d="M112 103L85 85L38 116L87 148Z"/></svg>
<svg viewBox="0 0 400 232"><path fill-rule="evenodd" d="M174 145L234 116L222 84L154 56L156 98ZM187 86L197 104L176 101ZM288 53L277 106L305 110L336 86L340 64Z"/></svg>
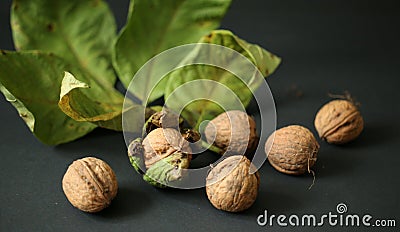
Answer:
<svg viewBox="0 0 400 232"><path fill-rule="evenodd" d="M314 125L323 140L328 143L343 144L361 134L364 120L352 102L333 100L318 111Z"/></svg>

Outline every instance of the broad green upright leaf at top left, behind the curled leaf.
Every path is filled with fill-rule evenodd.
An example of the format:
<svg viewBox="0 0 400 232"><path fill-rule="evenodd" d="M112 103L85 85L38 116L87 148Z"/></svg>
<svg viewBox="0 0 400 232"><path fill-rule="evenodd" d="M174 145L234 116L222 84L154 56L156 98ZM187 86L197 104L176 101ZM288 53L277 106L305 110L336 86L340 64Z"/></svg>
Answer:
<svg viewBox="0 0 400 232"><path fill-rule="evenodd" d="M17 50L52 52L88 74L93 87L114 85L114 17L101 0L14 0L11 28Z"/></svg>

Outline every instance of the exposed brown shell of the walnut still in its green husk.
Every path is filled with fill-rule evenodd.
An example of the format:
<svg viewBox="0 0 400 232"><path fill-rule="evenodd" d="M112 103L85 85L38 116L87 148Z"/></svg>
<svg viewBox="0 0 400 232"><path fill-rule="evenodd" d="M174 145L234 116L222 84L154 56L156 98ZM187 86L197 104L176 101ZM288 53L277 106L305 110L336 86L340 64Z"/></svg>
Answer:
<svg viewBox="0 0 400 232"><path fill-rule="evenodd" d="M182 137L179 131L173 128L157 128L151 131L144 138L142 145L146 168L176 151L188 154L189 161L192 158L189 142Z"/></svg>

